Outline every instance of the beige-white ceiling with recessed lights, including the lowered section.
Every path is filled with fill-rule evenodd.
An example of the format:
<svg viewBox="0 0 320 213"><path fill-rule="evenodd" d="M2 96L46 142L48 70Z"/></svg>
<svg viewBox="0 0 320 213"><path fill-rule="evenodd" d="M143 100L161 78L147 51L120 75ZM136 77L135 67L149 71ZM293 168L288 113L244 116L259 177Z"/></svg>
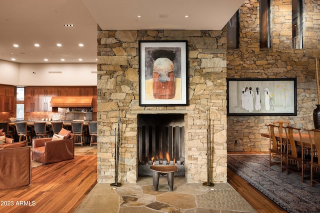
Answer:
<svg viewBox="0 0 320 213"><path fill-rule="evenodd" d="M15 58L19 63L61 63L61 58L64 63L96 62L97 23L104 30L220 30L243 1L0 0L0 59Z"/></svg>

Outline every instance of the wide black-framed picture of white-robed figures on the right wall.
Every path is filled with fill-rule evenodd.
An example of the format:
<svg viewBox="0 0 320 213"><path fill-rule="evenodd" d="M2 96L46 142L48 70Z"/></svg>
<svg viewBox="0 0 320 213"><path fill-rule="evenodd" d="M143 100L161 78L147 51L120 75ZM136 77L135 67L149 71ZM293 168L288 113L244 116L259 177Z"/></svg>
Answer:
<svg viewBox="0 0 320 213"><path fill-rule="evenodd" d="M296 78L226 78L226 83L229 116L296 116Z"/></svg>

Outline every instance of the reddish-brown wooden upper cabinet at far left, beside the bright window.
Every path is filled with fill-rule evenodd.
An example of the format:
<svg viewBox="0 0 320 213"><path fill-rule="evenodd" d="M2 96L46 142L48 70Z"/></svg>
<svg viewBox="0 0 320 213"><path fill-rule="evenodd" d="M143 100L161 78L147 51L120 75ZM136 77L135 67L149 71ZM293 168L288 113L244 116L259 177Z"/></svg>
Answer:
<svg viewBox="0 0 320 213"><path fill-rule="evenodd" d="M15 87L0 85L0 111L13 112L15 103Z"/></svg>

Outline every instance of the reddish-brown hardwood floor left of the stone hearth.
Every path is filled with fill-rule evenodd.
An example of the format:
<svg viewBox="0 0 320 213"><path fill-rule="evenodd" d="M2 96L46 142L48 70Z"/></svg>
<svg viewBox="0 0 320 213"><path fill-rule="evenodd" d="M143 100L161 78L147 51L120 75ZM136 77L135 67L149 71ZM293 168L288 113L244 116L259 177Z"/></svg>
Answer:
<svg viewBox="0 0 320 213"><path fill-rule="evenodd" d="M32 168L30 186L0 190L0 212L73 212L96 184L96 162L96 155L76 155Z"/></svg>

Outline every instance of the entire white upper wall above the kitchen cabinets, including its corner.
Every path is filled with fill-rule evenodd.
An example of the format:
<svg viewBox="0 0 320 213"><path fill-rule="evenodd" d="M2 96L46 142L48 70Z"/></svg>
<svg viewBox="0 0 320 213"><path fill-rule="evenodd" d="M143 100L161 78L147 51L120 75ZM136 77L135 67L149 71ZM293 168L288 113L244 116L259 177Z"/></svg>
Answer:
<svg viewBox="0 0 320 213"><path fill-rule="evenodd" d="M61 73L49 73L52 71ZM90 86L96 82L96 63L14 63L0 60L1 84Z"/></svg>

